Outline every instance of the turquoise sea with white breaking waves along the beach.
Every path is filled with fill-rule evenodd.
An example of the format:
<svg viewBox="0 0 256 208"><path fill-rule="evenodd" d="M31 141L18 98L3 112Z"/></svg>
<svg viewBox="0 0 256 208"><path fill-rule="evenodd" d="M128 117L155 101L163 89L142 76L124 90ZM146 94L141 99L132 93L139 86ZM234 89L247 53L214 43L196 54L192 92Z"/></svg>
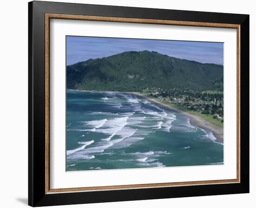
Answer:
<svg viewBox="0 0 256 208"><path fill-rule="evenodd" d="M189 117L135 95L67 90L67 171L223 164Z"/></svg>

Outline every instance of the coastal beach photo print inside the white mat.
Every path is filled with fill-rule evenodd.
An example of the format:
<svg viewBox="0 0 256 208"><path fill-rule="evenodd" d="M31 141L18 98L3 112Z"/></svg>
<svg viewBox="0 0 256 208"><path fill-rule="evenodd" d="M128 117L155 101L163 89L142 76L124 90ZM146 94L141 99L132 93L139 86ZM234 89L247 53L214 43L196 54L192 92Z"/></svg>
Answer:
<svg viewBox="0 0 256 208"><path fill-rule="evenodd" d="M223 165L223 43L66 36L66 171Z"/></svg>

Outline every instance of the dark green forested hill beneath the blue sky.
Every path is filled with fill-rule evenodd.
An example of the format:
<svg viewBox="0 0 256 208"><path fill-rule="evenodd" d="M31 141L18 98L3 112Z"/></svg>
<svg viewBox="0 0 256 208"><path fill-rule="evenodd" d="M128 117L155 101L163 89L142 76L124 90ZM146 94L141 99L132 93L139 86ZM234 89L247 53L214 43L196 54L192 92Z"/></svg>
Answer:
<svg viewBox="0 0 256 208"><path fill-rule="evenodd" d="M129 51L67 66L67 88L138 91L145 88L223 90L223 66Z"/></svg>

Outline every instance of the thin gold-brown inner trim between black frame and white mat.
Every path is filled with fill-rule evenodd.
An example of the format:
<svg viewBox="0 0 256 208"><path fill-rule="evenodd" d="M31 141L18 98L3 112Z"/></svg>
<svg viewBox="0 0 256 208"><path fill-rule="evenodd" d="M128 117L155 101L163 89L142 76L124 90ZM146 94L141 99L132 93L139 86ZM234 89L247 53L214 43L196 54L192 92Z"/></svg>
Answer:
<svg viewBox="0 0 256 208"><path fill-rule="evenodd" d="M89 21L108 21L140 24L159 24L159 25L181 25L181 26L199 26L199 27L219 27L236 29L236 179L194 181L194 182L174 182L174 183L147 183L132 185L116 186L98 186L98 187L81 187L50 189L50 19L73 19ZM192 185L209 185L224 183L240 183L240 25L208 23L208 22L189 22L175 20L159 19L135 19L135 18L117 18L104 16L87 16L87 15L69 15L69 14L45 14L45 193L63 193L63 192L82 192L82 191L103 191L103 190L121 190L121 189L145 189L145 188L162 188L175 186L192 186Z"/></svg>

